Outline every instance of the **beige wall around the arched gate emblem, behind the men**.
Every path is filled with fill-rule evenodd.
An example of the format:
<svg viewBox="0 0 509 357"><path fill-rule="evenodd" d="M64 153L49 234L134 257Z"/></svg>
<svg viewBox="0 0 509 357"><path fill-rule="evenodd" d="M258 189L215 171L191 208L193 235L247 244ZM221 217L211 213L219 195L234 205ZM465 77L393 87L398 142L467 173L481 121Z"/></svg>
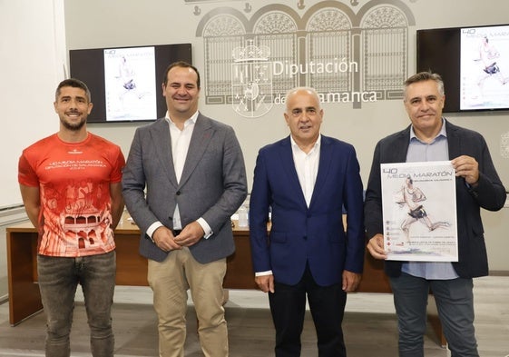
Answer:
<svg viewBox="0 0 509 357"><path fill-rule="evenodd" d="M296 2L280 2L295 7ZM318 1L306 0L308 9ZM349 6L349 1L343 1ZM364 5L367 1L359 2ZM204 54L201 37L195 31L201 16L193 15L198 5L202 13L220 6L229 6L240 12L246 5L241 1L213 1L186 4L183 0L152 0L150 5L137 0L89 0L76 2L65 0L66 37L68 49L94 48L102 46L156 45L191 43L193 63L203 68ZM273 1L250 2L253 12ZM416 17L416 26L409 29L409 54L415 54L416 30L421 28L454 27L460 25L490 25L507 23L509 3L505 0L491 0L490 5L477 0L412 0L405 2ZM493 9L496 9L494 11ZM354 9L355 10L355 9ZM246 15L249 16L249 15ZM93 19L92 26L83 27L84 19ZM415 71L415 55L410 55L409 73ZM201 71L202 72L202 71ZM400 101L380 101L363 104L362 109L351 105L324 104L324 134L336 136L357 148L361 174L365 184L371 165L373 149L377 141L387 134L396 132L408 124L403 104ZM265 116L256 120L246 119L230 110L229 105L206 105L201 111L211 117L232 125L239 136L248 168L252 171L258 149L288 134L284 124L282 107L275 105ZM474 129L485 138L491 148L495 165L502 179L509 187L509 161L499 154L500 135L509 132L509 114L454 114L448 115L451 122ZM92 131L102 134L120 144L125 154L129 150L135 124L90 125ZM491 269L509 271L509 261L504 252L509 248L509 211L483 213L485 235L488 243Z"/></svg>

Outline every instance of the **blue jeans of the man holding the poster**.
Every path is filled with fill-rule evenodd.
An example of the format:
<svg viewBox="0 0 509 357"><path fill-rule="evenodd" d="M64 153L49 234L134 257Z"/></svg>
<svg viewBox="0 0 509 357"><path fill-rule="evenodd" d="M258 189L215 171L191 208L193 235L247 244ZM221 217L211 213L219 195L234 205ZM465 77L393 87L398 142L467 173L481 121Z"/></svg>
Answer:
<svg viewBox="0 0 509 357"><path fill-rule="evenodd" d="M479 357L474 329L472 279L426 280L406 273L390 278L399 331L399 356L424 356L429 290L452 357Z"/></svg>

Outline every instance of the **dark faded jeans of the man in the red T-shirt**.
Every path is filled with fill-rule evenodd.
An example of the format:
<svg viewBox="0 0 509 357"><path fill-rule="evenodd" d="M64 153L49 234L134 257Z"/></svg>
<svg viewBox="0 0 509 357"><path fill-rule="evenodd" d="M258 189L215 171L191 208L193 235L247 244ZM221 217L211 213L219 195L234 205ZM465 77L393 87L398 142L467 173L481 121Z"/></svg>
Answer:
<svg viewBox="0 0 509 357"><path fill-rule="evenodd" d="M74 295L82 285L94 357L113 356L112 304L115 252L77 258L37 256L39 289L46 314L46 356L69 357Z"/></svg>

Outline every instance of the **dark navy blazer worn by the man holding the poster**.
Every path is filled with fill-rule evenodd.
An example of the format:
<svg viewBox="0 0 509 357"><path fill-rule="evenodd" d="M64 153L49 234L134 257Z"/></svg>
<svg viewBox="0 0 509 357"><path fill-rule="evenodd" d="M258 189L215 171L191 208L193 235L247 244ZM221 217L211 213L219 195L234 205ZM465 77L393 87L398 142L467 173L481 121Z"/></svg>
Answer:
<svg viewBox="0 0 509 357"><path fill-rule="evenodd" d="M479 164L479 184L475 189L456 178L456 219L458 229L459 261L453 263L456 273L462 278L473 278L488 274L488 258L485 246L481 210L498 211L504 207L505 188L485 142L485 138L472 130L461 128L445 121L445 132L449 148L449 159L461 155L472 156ZM375 148L371 173L367 182L365 224L367 239L377 233L383 234L382 188L380 164L405 163L410 142L410 126L405 130L380 140ZM401 273L402 262L386 261L389 276Z"/></svg>

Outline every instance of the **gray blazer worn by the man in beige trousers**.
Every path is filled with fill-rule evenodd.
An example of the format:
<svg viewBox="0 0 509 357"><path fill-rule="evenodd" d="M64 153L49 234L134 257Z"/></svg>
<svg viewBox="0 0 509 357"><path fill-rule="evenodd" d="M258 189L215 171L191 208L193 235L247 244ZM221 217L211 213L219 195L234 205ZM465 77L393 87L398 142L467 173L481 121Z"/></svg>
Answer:
<svg viewBox="0 0 509 357"><path fill-rule="evenodd" d="M246 168L233 129L199 114L177 183L168 122L161 118L137 128L122 174L122 193L142 232L142 256L157 262L167 257L146 231L157 221L171 229L178 203L182 227L202 217L213 232L190 247L194 258L210 263L227 257L235 251L230 216L247 195Z"/></svg>

